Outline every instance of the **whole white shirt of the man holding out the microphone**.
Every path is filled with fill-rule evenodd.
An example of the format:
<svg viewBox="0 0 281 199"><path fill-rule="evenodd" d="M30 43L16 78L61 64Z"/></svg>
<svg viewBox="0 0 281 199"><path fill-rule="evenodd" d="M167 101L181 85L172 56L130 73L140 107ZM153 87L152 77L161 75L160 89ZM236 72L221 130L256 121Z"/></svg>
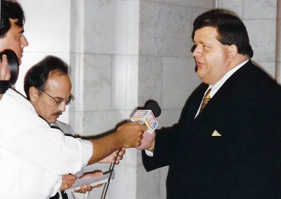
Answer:
<svg viewBox="0 0 281 199"><path fill-rule="evenodd" d="M49 198L61 175L81 170L92 153L91 142L65 137L25 97L6 91L0 101L0 198Z"/></svg>

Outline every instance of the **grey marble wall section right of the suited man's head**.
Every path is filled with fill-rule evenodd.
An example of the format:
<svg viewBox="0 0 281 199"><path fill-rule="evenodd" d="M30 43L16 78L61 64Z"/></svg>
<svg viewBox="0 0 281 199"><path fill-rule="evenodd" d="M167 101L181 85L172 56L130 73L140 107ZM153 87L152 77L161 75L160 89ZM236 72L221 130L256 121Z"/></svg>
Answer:
<svg viewBox="0 0 281 199"><path fill-rule="evenodd" d="M277 0L217 0L218 8L227 8L243 20L254 50L252 60L272 78L275 74Z"/></svg>

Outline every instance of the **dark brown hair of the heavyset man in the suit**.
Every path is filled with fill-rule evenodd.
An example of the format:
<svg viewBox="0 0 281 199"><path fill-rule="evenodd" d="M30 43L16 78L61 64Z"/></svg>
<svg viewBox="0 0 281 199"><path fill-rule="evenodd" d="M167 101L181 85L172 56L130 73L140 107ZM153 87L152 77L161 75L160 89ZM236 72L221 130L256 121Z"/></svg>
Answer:
<svg viewBox="0 0 281 199"><path fill-rule="evenodd" d="M197 29L214 27L218 32L219 42L228 46L235 45L239 54L253 57L246 27L239 18L230 13L227 10L214 9L199 15L193 22L192 40Z"/></svg>

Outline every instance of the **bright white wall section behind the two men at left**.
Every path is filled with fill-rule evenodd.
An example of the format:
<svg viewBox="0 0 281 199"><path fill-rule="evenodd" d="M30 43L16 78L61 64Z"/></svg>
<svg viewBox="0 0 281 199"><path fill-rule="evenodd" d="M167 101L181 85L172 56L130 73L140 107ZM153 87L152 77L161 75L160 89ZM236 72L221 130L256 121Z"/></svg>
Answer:
<svg viewBox="0 0 281 199"><path fill-rule="evenodd" d="M25 11L25 36L29 46L24 49L20 74L15 87L22 93L23 78L33 64L55 55L70 63L70 1L20 0ZM68 109L60 116L68 122Z"/></svg>

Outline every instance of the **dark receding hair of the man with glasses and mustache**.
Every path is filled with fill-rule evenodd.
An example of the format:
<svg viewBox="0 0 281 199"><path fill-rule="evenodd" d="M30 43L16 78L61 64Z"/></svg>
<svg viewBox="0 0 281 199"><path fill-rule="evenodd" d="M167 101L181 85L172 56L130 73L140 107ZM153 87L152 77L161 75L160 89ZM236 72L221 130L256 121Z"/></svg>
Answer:
<svg viewBox="0 0 281 199"><path fill-rule="evenodd" d="M46 81L52 71L56 71L62 75L68 74L68 66L63 60L55 56L47 56L33 67L31 67L27 74L25 74L25 94L30 100L30 87L34 86L38 90L45 90Z"/></svg>

